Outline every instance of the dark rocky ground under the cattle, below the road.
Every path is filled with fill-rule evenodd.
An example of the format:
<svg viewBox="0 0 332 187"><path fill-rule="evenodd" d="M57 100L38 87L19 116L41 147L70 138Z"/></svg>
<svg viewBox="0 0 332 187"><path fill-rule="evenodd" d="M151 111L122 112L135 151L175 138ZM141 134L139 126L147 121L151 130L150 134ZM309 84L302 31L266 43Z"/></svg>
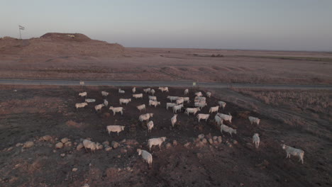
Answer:
<svg viewBox="0 0 332 187"><path fill-rule="evenodd" d="M180 113L178 125L170 126L172 111L166 111L167 95L182 96L183 89L170 88L169 94L157 91L162 105L147 107L147 113L155 113L151 133L138 122L140 103L148 104L148 97L124 106L121 115L107 115L106 108L94 112L94 104L76 111L74 103L82 102L77 95L87 91L88 98L102 102L100 91L110 91L110 106L118 106L118 98L131 97L131 89L118 94L111 87L70 86L1 86L0 87L0 186L331 186L331 128L315 123L324 130L325 137L283 123L269 113L266 104L229 89L216 89L213 96L227 101L223 113L233 115L232 124L238 133L233 138L224 134L222 142L201 143L197 136L204 134L207 140L221 136L213 118L197 122L194 115ZM157 88L154 88L157 90ZM142 92L141 88L137 89ZM190 91L194 97L194 90ZM331 96L331 94L329 95ZM220 98L207 98L215 106ZM246 104L255 104L248 110ZM192 104L185 105L192 106ZM248 107L250 108L250 107ZM201 113L207 113L204 108ZM282 108L275 106L275 112ZM250 125L247 117L261 118L260 125ZM294 116L298 115L294 111ZM212 115L214 116L214 115ZM280 117L280 116L279 116ZM309 119L309 122L316 122ZM106 125L125 125L119 136L106 133ZM260 133L260 148L251 144L253 133ZM40 141L43 135L52 136L50 141ZM136 149L147 149L150 137L166 136L162 150L153 148L153 168L138 156ZM70 138L72 146L55 149L55 143L63 137ZM120 146L95 154L76 150L74 142L91 137L93 141L116 141ZM126 139L126 141L122 141ZM177 145L173 145L173 140ZM236 140L236 142L234 142ZM18 143L33 141L31 148ZM135 143L137 142L137 143ZM189 142L189 145L186 145ZM304 150L304 164L297 158L285 159L280 144ZM166 148L167 143L171 143ZM64 157L60 156L65 154ZM77 168L77 171L72 171Z"/></svg>

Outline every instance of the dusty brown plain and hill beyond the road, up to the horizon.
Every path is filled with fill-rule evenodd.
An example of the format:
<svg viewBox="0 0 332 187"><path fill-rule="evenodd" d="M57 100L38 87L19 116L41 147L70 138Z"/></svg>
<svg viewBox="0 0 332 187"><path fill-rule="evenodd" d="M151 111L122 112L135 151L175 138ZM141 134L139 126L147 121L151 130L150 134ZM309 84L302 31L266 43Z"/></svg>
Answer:
<svg viewBox="0 0 332 187"><path fill-rule="evenodd" d="M74 35L1 38L0 78L332 83L331 52L125 48Z"/></svg>

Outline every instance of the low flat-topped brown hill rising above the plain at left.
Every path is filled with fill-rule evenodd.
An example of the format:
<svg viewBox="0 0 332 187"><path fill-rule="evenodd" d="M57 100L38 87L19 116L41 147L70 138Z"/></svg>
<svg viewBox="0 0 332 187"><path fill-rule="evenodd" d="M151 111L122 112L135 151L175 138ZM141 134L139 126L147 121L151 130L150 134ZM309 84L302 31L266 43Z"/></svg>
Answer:
<svg viewBox="0 0 332 187"><path fill-rule="evenodd" d="M92 40L79 33L46 33L40 38L18 40L0 38L0 54L16 55L24 60L48 60L63 57L123 57L125 47L117 43Z"/></svg>

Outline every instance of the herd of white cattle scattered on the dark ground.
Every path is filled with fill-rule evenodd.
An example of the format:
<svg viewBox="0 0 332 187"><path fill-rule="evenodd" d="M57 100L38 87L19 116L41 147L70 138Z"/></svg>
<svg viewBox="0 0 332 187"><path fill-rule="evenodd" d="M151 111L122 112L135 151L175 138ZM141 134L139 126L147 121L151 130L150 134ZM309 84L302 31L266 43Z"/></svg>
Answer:
<svg viewBox="0 0 332 187"><path fill-rule="evenodd" d="M169 91L168 87L159 87L158 90L162 91L162 92L167 92ZM143 94L135 94L136 92L136 88L133 87L132 89L132 96L135 99L141 98L143 99ZM148 105L149 106L160 106L160 102L157 101L157 96L154 96L155 94L155 90L154 89L143 89L143 92L145 94L152 94L152 96L148 96L149 98L149 102ZM118 89L118 93L119 94L124 94L125 91L122 89ZM173 115L173 117L170 119L171 121L171 125L172 127L175 126L175 124L177 123L177 113L182 111L182 108L184 108L184 102L190 103L190 98L186 97L186 95L189 94L189 89L185 89L184 90L184 96L167 96L167 99L170 100L170 103L166 103L166 109L168 110L168 108L173 108L173 113L175 113ZM88 103L94 103L96 102L96 99L93 98L87 98L87 92L82 92L79 93L79 96L81 97L85 97L85 102L84 103L76 103L75 107L78 110L78 108L84 108L85 106L88 105ZM107 107L109 105L109 102L106 100L106 97L109 96L109 93L106 91L101 91L101 96L103 96L104 99L104 103L98 104L96 106L94 106L94 109L96 110L96 112L101 111L101 108L103 107ZM211 97L211 92L206 92L206 97ZM194 98L194 106L195 108L185 108L184 113L186 113L187 115L189 115L190 113L192 113L193 115L196 115L197 112L201 111L202 108L204 108L205 106L207 106L206 103L206 97L203 96L203 94L201 93L201 91L195 93L195 98ZM123 103L126 104L126 106L128 105L128 103L131 102L131 98L120 98L119 99L119 104L122 105ZM212 113L216 113L216 115L214 116L214 120L216 122L216 124L218 125L218 127L220 128L221 134L223 134L223 132L228 132L231 137L233 136L232 134L236 134L236 130L223 124L223 121L228 121L229 123L232 123L232 115L231 113L228 114L224 114L224 113L218 113L220 108L225 108L226 107L226 102L224 101L218 101L218 105L217 106L211 106L209 109L209 113L208 114L204 114L204 113L198 113L196 115L198 121L200 122L200 120L205 120L207 122L207 120L210 118L210 115ZM138 111L142 112L145 111L145 104L136 106L136 108L138 108ZM121 113L121 115L123 115L123 107L114 107L114 106L110 106L109 110L113 111L113 114L116 115L116 113ZM154 123L153 120L150 120L150 118L153 118L153 113L145 113L142 114L140 116L138 116L138 120L140 122L146 121L146 125L148 128L148 132L151 132L151 130L153 129ZM250 121L250 124L253 125L253 123L256 123L257 125L260 124L260 119L259 118L255 118L253 116L249 116L248 120ZM125 128L125 126L122 125L108 125L106 127L107 132L110 133L111 132L116 132L117 135L119 132L123 131ZM152 138L150 140L148 140L148 147L151 151L151 147L153 147L154 145L158 145L161 149L161 145L162 142L165 142L166 137L157 137L157 138ZM94 143L91 142L89 140L86 141L86 144L84 145L84 147L86 149L91 149L92 151L98 149L98 143ZM255 145L255 147L258 149L259 145L260 145L260 137L258 133L255 133L253 135L253 144ZM294 155L299 157L299 161L301 161L301 163L303 164L303 157L304 157L304 151L301 149L296 149L294 147L289 147L287 145L282 145L282 149L284 149L286 151L287 157L286 158L290 158L290 155ZM152 154L150 154L149 152L142 150L142 149L137 149L138 151L138 155L142 155L143 159L145 160L145 162L148 162L149 167L152 166L152 161L153 161L153 157Z"/></svg>

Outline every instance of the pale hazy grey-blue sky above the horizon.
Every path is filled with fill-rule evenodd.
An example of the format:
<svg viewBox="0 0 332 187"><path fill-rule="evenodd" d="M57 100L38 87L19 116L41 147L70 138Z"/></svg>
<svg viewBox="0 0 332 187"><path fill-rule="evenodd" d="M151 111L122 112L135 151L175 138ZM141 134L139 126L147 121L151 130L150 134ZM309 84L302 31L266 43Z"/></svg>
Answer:
<svg viewBox="0 0 332 187"><path fill-rule="evenodd" d="M332 0L0 0L0 37L83 33L125 47L332 51Z"/></svg>

